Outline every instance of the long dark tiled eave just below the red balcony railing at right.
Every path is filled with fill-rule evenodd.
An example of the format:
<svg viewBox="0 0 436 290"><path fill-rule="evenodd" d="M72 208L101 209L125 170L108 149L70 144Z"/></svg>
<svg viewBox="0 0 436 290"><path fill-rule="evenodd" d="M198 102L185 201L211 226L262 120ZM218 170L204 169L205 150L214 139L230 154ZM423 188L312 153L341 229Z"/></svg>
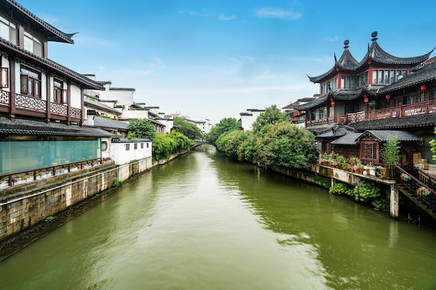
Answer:
<svg viewBox="0 0 436 290"><path fill-rule="evenodd" d="M410 129L414 127L436 127L436 114L414 115L402 118L390 118L356 122L349 125L357 131L368 129Z"/></svg>

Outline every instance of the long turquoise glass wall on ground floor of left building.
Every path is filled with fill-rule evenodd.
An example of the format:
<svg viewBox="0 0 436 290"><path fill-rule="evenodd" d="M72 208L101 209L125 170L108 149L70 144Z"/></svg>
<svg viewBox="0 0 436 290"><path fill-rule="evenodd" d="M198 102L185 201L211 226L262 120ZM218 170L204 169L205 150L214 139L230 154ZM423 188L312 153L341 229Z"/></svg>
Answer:
<svg viewBox="0 0 436 290"><path fill-rule="evenodd" d="M0 137L0 175L98 158L99 137Z"/></svg>

